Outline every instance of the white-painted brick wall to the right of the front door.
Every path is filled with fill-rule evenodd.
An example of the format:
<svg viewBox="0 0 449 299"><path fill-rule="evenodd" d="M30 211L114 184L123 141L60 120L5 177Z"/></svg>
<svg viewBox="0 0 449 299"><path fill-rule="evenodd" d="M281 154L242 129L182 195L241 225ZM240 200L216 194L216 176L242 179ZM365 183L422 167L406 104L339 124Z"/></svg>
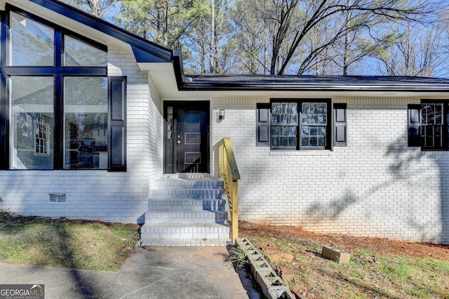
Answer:
<svg viewBox="0 0 449 299"><path fill-rule="evenodd" d="M347 103L348 145L309 152L256 147L257 102L269 99L213 100L226 118L212 143L230 137L239 164L241 220L449 243L449 153L407 147L407 105L420 99L333 99Z"/></svg>

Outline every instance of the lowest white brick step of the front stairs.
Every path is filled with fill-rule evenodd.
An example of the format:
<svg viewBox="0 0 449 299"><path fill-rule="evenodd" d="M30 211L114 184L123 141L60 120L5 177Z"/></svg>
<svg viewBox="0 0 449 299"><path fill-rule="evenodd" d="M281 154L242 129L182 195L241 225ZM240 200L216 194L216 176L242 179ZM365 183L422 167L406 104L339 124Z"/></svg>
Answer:
<svg viewBox="0 0 449 299"><path fill-rule="evenodd" d="M140 229L142 240L149 239L229 239L229 226L207 224L150 224Z"/></svg>

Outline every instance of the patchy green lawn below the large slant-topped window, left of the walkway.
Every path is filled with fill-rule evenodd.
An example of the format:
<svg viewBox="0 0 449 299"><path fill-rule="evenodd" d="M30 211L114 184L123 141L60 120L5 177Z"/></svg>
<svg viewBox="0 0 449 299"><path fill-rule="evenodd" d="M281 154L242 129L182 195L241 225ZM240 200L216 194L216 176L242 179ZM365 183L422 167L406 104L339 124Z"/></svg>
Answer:
<svg viewBox="0 0 449 299"><path fill-rule="evenodd" d="M0 211L0 261L117 271L138 240L137 225L22 217Z"/></svg>

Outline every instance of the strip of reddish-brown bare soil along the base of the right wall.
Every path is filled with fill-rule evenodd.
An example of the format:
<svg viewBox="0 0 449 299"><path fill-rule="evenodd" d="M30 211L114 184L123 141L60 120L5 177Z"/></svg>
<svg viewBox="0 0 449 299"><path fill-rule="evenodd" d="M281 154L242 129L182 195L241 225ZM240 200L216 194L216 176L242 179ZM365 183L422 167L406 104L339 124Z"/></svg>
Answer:
<svg viewBox="0 0 449 299"><path fill-rule="evenodd" d="M375 254L407 255L410 258L449 258L449 245L414 243L384 238L353 237L347 234L320 234L298 227L258 225L241 222L241 237L268 235L290 239L304 239L321 245L347 248L349 251L368 250Z"/></svg>

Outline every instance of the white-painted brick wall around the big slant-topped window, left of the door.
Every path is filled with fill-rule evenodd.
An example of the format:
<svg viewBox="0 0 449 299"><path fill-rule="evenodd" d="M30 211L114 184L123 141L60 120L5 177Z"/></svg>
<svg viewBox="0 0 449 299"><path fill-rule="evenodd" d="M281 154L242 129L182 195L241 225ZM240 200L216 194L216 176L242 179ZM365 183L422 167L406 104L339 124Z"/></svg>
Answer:
<svg viewBox="0 0 449 299"><path fill-rule="evenodd" d="M108 52L108 74L128 79L128 171L0 171L0 209L55 218L142 220L150 182L162 173L161 102L150 95L147 74L132 53L114 47ZM66 194L67 203L49 203L50 193Z"/></svg>

